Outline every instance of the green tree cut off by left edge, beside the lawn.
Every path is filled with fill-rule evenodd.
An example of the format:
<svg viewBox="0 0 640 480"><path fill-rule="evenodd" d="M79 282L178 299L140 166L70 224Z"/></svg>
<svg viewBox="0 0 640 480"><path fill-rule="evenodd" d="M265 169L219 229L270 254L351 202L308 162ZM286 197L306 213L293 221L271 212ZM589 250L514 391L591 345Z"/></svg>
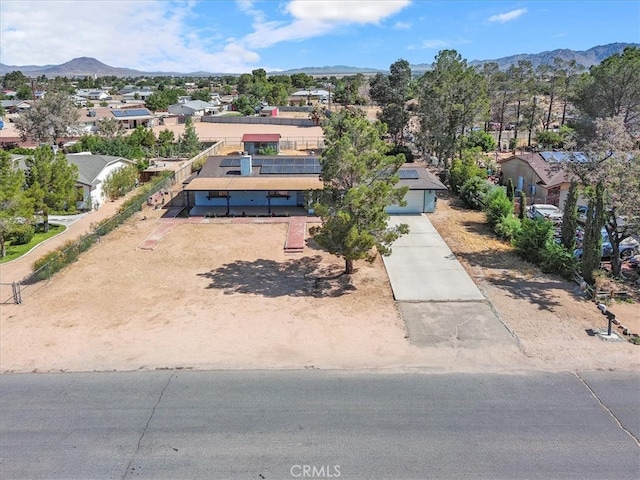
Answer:
<svg viewBox="0 0 640 480"><path fill-rule="evenodd" d="M31 219L33 204L24 195L24 172L0 150L0 257L7 255L6 240L19 227L20 221Z"/></svg>

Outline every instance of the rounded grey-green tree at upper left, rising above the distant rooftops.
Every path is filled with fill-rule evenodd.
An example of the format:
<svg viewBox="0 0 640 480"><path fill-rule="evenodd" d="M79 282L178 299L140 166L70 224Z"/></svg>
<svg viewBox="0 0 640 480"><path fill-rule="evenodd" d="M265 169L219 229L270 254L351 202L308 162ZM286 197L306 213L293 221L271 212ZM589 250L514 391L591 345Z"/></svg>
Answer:
<svg viewBox="0 0 640 480"><path fill-rule="evenodd" d="M22 113L16 128L23 140L57 143L80 133L78 108L66 93L49 92Z"/></svg>

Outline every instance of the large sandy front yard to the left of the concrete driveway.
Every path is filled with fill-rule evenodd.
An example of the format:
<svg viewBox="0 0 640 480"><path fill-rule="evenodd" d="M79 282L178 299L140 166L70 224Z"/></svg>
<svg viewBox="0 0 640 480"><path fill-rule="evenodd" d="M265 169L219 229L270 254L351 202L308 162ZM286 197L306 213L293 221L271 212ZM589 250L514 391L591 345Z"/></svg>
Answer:
<svg viewBox="0 0 640 480"><path fill-rule="evenodd" d="M349 280L313 245L285 254L285 224L180 224L141 250L159 212L2 306L2 371L451 368L406 340L381 261Z"/></svg>

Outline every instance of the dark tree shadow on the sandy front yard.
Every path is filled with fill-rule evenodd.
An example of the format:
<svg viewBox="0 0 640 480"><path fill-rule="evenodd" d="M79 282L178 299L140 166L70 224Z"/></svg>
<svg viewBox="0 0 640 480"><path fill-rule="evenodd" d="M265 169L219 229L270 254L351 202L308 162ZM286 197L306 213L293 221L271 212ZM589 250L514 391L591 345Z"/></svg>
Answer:
<svg viewBox="0 0 640 480"><path fill-rule="evenodd" d="M340 297L356 288L338 265L323 265L320 255L276 262L260 258L236 260L215 270L199 273L211 283L207 288L225 295L247 293L265 297Z"/></svg>

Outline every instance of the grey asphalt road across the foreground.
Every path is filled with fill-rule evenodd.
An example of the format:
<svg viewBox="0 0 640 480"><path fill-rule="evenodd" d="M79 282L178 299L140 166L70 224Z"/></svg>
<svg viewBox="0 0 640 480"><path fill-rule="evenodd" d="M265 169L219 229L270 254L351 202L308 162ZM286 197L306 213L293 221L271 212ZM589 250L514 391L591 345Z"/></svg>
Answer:
<svg viewBox="0 0 640 480"><path fill-rule="evenodd" d="M637 479L640 375L0 376L0 478Z"/></svg>

